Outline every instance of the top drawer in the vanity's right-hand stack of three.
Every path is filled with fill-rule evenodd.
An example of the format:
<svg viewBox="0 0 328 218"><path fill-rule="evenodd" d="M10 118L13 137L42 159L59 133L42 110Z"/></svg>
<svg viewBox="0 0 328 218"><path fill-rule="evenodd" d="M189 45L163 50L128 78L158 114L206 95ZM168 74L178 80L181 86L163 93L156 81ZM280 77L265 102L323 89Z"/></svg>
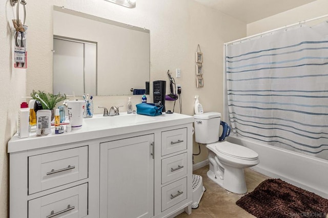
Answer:
<svg viewBox="0 0 328 218"><path fill-rule="evenodd" d="M187 149L187 128L162 132L162 156Z"/></svg>

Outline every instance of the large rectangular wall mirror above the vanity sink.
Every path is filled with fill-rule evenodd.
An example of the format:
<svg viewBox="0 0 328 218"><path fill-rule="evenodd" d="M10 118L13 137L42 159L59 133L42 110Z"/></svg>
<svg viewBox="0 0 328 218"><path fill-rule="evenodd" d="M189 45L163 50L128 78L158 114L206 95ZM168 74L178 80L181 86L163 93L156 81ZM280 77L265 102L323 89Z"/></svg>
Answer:
<svg viewBox="0 0 328 218"><path fill-rule="evenodd" d="M54 93L132 95L131 89L146 89L149 30L54 6L53 35Z"/></svg>

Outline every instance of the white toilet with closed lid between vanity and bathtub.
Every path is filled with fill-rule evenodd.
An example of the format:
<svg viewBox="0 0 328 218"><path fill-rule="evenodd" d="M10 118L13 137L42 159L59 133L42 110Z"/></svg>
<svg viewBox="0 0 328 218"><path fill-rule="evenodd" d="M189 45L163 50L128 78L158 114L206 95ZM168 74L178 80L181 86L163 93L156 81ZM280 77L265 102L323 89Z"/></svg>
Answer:
<svg viewBox="0 0 328 218"><path fill-rule="evenodd" d="M219 141L219 138L225 138L219 136L220 113L196 114L194 118L195 141L206 144L209 151L210 170L207 176L228 191L237 194L246 193L243 169L257 165L258 154L247 147Z"/></svg>

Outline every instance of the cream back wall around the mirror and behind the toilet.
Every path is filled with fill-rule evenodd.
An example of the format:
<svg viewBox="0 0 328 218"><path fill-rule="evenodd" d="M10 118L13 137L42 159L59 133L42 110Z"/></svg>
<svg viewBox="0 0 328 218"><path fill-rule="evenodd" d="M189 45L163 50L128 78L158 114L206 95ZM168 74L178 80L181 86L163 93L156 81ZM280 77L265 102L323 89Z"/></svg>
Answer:
<svg viewBox="0 0 328 218"><path fill-rule="evenodd" d="M83 3L77 0L54 0L53 4L149 29L151 90L152 81L166 80L169 92L167 71L170 70L175 77L175 69L178 68L181 69L181 78L175 78L175 81L182 86L183 114L194 114L196 94L200 95L199 100L205 111L223 111L223 42L245 36L246 26L241 21L190 0L138 0L134 9L103 0ZM29 41L29 46L33 47L33 50L29 51L31 67L28 72L31 73L27 78L27 93L31 93L32 89L51 92L52 70L49 66L52 66L52 7L46 1L33 1L29 6L31 14L38 14L30 18L30 26L39 32L30 33L36 40L32 37ZM39 37L39 34L42 37ZM204 87L201 89L196 88L195 53L198 44L204 59ZM127 97L97 96L94 98L95 113L103 113L97 106L112 105L124 105L121 111L126 111ZM152 102L152 95L148 96L148 101ZM132 96L133 105L139 102L140 96ZM172 110L173 102L167 101L166 108ZM178 102L175 112L179 112ZM195 150L198 151L197 145ZM207 150L202 146L201 156L195 156L195 162L206 158Z"/></svg>

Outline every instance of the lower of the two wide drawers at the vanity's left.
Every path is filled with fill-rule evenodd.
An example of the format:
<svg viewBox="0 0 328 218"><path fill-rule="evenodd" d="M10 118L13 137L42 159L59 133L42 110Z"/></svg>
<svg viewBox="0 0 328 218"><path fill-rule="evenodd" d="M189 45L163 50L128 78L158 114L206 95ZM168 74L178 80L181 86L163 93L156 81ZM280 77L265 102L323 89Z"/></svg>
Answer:
<svg viewBox="0 0 328 218"><path fill-rule="evenodd" d="M79 218L87 215L88 183L58 191L28 202L29 218Z"/></svg>

